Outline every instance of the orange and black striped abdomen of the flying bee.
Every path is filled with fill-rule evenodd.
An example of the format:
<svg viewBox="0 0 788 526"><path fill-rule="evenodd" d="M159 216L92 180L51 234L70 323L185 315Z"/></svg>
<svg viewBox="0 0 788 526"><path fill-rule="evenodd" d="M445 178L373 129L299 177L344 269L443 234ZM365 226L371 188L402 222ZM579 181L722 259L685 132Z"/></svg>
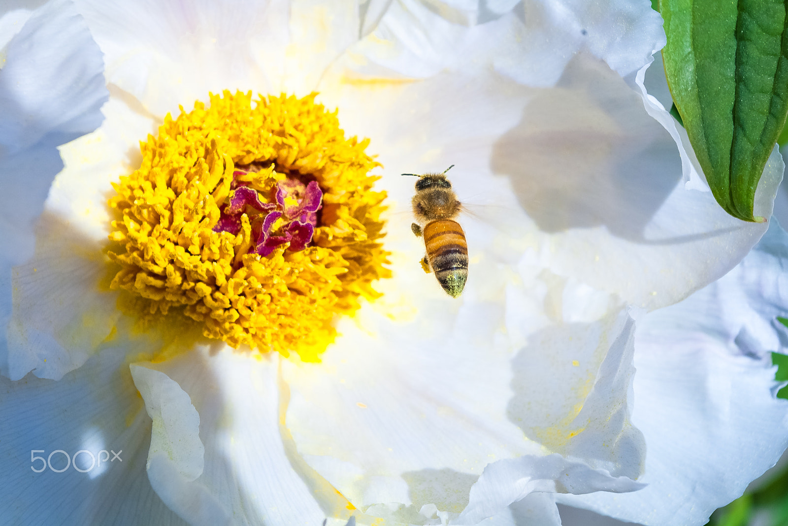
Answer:
<svg viewBox="0 0 788 526"><path fill-rule="evenodd" d="M427 260L444 291L456 298L468 279L468 243L459 223L432 221L424 227Z"/></svg>

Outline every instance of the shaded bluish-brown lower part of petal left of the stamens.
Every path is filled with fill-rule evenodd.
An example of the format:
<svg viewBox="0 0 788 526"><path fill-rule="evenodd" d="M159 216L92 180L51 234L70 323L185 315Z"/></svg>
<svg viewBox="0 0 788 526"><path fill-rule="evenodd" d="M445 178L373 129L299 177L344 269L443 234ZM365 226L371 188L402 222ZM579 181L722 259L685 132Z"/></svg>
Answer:
<svg viewBox="0 0 788 526"><path fill-rule="evenodd" d="M13 269L13 314L0 372L18 380L31 370L59 380L113 334L121 313L102 291L100 247L50 213L39 218L35 255Z"/></svg>

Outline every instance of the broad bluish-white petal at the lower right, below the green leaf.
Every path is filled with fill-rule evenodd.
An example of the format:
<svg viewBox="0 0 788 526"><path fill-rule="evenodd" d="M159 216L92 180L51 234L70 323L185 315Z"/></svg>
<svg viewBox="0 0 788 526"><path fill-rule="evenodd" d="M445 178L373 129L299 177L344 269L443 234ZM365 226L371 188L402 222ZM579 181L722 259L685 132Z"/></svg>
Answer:
<svg viewBox="0 0 788 526"><path fill-rule="evenodd" d="M641 320L632 419L649 447L649 485L560 502L642 524L705 524L774 465L788 445L788 402L774 396L770 357L788 350L775 320L788 313L786 246L772 221L727 276Z"/></svg>

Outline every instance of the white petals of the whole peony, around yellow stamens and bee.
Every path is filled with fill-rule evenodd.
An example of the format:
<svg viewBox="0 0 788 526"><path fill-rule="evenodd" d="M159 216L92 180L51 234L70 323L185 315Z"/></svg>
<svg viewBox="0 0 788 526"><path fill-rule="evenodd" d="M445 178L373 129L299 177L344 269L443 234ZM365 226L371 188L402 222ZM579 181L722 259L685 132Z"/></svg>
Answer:
<svg viewBox="0 0 788 526"><path fill-rule="evenodd" d="M774 322L786 234L702 191L644 87L664 43L649 2L512 3L54 0L2 14L0 517L491 526L560 524L563 502L703 524L776 461L788 407L768 351L788 336ZM99 124L101 53L106 118L61 146L60 171L54 146ZM223 90L317 91L370 139L393 209L414 192L400 173L455 165L459 198L482 205L460 220L462 296L422 272L423 241L395 212L393 277L337 317L320 361L194 343L185 322L140 331L107 286L108 235L139 226L110 225L125 206L107 205L112 184L150 166L139 141L176 126L167 113ZM761 215L783 169L775 154ZM320 332L309 321L269 320L303 342Z"/></svg>

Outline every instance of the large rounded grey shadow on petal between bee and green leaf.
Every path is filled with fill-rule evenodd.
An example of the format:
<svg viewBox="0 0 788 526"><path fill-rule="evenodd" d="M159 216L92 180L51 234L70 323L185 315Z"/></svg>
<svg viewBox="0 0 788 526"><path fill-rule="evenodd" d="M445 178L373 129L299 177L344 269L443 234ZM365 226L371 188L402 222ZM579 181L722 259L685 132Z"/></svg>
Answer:
<svg viewBox="0 0 788 526"><path fill-rule="evenodd" d="M678 154L641 98L607 65L576 55L493 146L492 171L509 176L522 208L544 232L604 224L642 240L680 177ZM666 163L652 163L664 157Z"/></svg>

